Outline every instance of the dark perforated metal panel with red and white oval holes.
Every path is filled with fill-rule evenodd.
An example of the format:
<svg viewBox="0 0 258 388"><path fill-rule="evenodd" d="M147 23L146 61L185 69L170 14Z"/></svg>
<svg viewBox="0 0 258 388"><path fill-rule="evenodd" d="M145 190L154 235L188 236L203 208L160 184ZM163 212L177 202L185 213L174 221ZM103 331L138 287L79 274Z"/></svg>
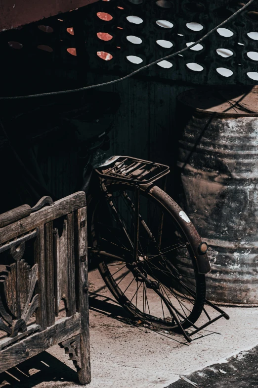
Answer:
<svg viewBox="0 0 258 388"><path fill-rule="evenodd" d="M99 0L1 33L4 71L12 85L36 85L41 78L47 90L49 80L70 79L71 87L77 80L82 86L91 70L125 75L196 42L243 4ZM198 46L140 74L199 85L257 84L258 0Z"/></svg>

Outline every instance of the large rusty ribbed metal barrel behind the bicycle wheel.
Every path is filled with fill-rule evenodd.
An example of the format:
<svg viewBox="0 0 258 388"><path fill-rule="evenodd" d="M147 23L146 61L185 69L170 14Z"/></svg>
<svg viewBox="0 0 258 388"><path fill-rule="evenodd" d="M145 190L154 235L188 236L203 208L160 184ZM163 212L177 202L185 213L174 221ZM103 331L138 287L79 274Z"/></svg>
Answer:
<svg viewBox="0 0 258 388"><path fill-rule="evenodd" d="M258 306L258 87L178 96L180 204L206 241L207 297Z"/></svg>

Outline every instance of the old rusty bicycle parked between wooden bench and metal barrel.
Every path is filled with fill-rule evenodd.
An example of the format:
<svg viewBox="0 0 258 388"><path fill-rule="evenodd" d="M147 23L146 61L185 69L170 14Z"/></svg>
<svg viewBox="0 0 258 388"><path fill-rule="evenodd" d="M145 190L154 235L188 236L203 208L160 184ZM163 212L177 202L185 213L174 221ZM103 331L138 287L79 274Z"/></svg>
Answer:
<svg viewBox="0 0 258 388"><path fill-rule="evenodd" d="M44 128L49 127L49 117L55 113L51 128L60 130L61 121L66 133L72 128L71 133L77 134L81 169L84 166L91 260L98 261L107 287L135 319L179 331L190 342L185 330L194 325L207 303L205 274L211 269L208 246L183 210L156 185L170 172L168 166L99 152L109 148L108 133L113 126L105 113L110 118L118 108L114 93L100 96L105 103L102 110L97 93L88 95L87 101L79 96L69 103L70 110L66 100L58 102L58 109L47 101L43 110L51 114L42 116L43 129L37 138L40 136L43 151L39 148L39 154L49 149L48 138L45 143L43 140ZM34 131L34 115L39 115L38 108L16 115L14 126L26 122ZM61 126L60 136L62 133ZM51 135L59 149L60 136ZM66 138L71 142L70 135ZM51 146L52 150L57 147L53 141ZM39 198L42 195L45 188Z"/></svg>

